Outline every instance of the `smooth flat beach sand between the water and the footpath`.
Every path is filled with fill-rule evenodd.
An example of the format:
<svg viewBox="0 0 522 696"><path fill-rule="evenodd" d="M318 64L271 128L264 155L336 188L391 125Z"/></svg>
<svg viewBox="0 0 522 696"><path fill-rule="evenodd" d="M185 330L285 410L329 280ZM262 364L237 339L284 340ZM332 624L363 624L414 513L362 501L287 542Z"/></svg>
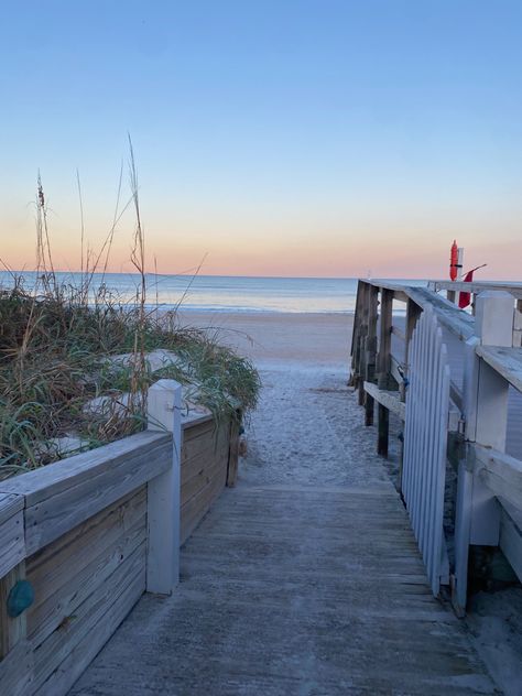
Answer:
<svg viewBox="0 0 522 696"><path fill-rule="evenodd" d="M259 367L337 366L348 370L354 315L279 312L180 312L183 326L217 331Z"/></svg>

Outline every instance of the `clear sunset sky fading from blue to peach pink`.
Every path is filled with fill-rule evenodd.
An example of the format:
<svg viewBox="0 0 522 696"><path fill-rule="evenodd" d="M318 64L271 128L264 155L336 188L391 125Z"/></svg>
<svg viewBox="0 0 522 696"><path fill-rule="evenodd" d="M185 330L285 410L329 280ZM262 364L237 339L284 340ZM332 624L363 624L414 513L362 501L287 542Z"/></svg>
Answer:
<svg viewBox="0 0 522 696"><path fill-rule="evenodd" d="M522 281L520 0L0 2L2 261L56 268L130 196L148 268ZM110 270L128 271L133 216Z"/></svg>

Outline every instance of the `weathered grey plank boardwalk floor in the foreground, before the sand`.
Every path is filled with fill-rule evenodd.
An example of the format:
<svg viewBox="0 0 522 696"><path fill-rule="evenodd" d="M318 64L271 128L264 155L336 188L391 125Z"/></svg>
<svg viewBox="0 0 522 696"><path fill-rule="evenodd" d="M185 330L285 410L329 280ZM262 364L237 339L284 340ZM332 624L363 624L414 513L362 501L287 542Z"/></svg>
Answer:
<svg viewBox="0 0 522 696"><path fill-rule="evenodd" d="M297 694L311 683L328 696L493 693L461 623L431 595L411 529L373 545L388 525L368 524L371 505L379 491L226 490L183 551L170 610L140 603L73 694L108 679L129 696L143 685ZM415 563L402 561L404 543Z"/></svg>

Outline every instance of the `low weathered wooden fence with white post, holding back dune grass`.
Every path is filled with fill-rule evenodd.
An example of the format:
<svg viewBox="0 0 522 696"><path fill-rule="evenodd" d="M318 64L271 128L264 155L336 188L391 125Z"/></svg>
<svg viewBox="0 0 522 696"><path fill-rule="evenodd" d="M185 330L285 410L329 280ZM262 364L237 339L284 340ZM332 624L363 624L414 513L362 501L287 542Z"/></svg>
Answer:
<svg viewBox="0 0 522 696"><path fill-rule="evenodd" d="M61 696L178 553L237 468L237 426L149 391L149 429L0 483L0 693Z"/></svg>

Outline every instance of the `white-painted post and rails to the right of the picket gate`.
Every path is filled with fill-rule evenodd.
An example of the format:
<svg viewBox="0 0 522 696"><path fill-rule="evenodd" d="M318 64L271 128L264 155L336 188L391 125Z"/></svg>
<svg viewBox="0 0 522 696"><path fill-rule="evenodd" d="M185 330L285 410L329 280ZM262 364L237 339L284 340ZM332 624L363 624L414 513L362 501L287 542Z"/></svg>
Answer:
<svg viewBox="0 0 522 696"><path fill-rule="evenodd" d="M522 349L512 347L512 295L480 293L475 328L476 336L466 344L463 400L466 447L458 469L455 519L454 605L463 613L471 544L500 545L522 579L521 530L514 529L509 544L504 545L502 540L502 526L510 528L513 522L507 508L514 505L516 514L522 513L522 461L504 455L509 387L511 383L520 390L516 365L522 365ZM502 357L502 351L508 355ZM510 357L514 367L510 366ZM511 487L508 501L507 486Z"/></svg>

